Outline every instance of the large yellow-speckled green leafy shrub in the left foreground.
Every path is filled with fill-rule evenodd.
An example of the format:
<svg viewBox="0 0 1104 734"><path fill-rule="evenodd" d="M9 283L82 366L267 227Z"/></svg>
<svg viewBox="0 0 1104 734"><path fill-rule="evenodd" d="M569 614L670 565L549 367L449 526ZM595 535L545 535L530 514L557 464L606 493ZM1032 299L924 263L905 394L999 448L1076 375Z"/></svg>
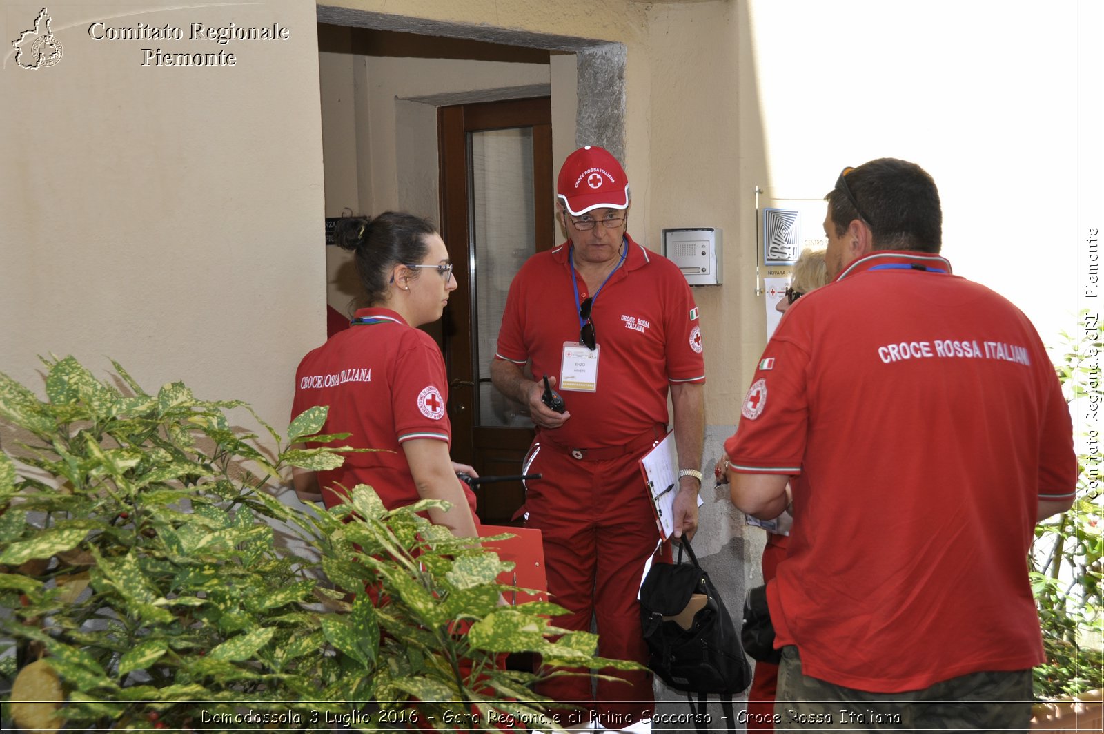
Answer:
<svg viewBox="0 0 1104 734"><path fill-rule="evenodd" d="M338 438L318 436L325 408L284 440L254 416L268 453L231 426L240 401L44 361L46 400L0 375L6 727L496 728L549 721L506 653L636 667L550 627L554 605L503 606L510 565L432 525L431 502L388 511L360 485L312 513L272 496L288 464L341 463L287 448Z"/></svg>

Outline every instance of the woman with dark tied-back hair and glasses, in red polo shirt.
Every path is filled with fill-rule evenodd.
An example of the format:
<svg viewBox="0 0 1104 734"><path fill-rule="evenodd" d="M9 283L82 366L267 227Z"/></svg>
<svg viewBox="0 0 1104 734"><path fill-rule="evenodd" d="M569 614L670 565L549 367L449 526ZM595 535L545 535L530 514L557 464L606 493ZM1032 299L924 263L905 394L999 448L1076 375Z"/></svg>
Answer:
<svg viewBox="0 0 1104 734"><path fill-rule="evenodd" d="M429 520L475 536L475 494L456 474L476 474L449 459L445 363L417 328L440 318L456 290L445 242L425 220L391 211L343 219L337 237L354 253L368 307L299 363L291 416L329 406L321 432L351 433L330 445L378 450L346 453L330 471L293 470L296 494L331 507L368 484L388 508L446 500L452 507L431 510Z"/></svg>

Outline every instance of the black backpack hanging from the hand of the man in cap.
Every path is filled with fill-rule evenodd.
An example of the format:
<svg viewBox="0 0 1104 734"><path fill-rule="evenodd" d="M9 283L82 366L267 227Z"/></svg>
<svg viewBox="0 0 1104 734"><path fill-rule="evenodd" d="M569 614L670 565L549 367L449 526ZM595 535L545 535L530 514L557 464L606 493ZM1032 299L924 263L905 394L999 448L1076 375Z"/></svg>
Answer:
<svg viewBox="0 0 1104 734"><path fill-rule="evenodd" d="M682 548L690 564L682 563ZM694 725L704 731L705 702L719 694L729 730L734 731L732 696L752 680L740 631L683 537L678 563L655 564L640 586L640 617L648 643L648 668L668 686L686 692ZM689 695L698 694L698 707Z"/></svg>

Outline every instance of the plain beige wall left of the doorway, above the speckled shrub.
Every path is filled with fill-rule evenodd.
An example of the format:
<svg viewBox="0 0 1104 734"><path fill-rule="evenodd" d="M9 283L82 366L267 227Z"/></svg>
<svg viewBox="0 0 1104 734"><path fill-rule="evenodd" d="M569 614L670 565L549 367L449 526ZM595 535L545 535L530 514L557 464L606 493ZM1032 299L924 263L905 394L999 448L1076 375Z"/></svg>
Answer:
<svg viewBox="0 0 1104 734"><path fill-rule="evenodd" d="M0 38L0 369L35 355L119 360L148 389L182 379L287 424L299 357L325 337L322 156L312 3L50 4L59 63L10 41L43 3L6 1ZM189 41L189 23L289 29L286 41ZM182 27L182 41L94 41L88 27ZM236 55L141 66L142 48Z"/></svg>

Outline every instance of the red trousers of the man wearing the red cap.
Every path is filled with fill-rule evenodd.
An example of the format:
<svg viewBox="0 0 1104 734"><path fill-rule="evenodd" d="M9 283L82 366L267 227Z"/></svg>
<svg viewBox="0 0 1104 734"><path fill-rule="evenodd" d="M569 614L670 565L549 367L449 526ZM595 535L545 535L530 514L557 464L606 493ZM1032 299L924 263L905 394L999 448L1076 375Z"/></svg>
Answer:
<svg viewBox="0 0 1104 734"><path fill-rule="evenodd" d="M553 623L590 631L593 617L599 656L647 662L637 595L659 529L639 457L580 460L542 442L526 471L543 475L527 482L526 526L540 528L551 600L569 610ZM538 690L622 728L651 711L651 672L616 674L619 680L598 680L596 692L588 675L558 677Z"/></svg>

